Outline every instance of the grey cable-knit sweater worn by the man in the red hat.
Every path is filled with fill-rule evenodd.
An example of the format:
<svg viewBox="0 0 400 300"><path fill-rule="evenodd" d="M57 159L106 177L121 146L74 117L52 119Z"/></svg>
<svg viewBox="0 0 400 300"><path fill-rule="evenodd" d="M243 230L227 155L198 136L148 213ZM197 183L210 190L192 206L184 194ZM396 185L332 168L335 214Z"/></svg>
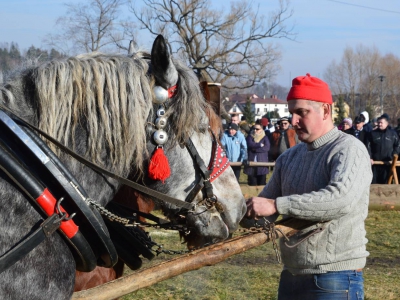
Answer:
<svg viewBox="0 0 400 300"><path fill-rule="evenodd" d="M363 268L371 164L366 147L336 127L311 144L285 151L259 196L276 199L279 214L329 221L322 232L294 248L280 241L282 261L293 274ZM290 238L294 244L317 226Z"/></svg>

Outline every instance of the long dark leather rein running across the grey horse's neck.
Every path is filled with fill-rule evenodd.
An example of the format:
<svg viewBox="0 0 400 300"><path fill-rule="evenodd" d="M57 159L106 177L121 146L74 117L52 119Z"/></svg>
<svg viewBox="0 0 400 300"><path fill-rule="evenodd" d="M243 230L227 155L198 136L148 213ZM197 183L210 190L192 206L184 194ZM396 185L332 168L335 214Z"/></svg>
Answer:
<svg viewBox="0 0 400 300"><path fill-rule="evenodd" d="M108 171L108 170L106 170L106 169L104 169L104 168L98 166L97 164L95 164L95 163L93 163L93 162L87 160L86 158L84 158L84 157L80 156L79 154L77 154L76 152L72 151L70 148L64 146L64 145L61 144L59 141L57 141L56 139L54 139L53 137L51 137L50 135L48 135L46 132L44 132L44 131L42 131L41 129L35 127L34 125L30 124L29 122L27 122L27 121L25 121L25 120L23 120L23 119L17 117L17 116L14 115L8 108L4 107L3 105L0 105L0 108L3 109L3 110L5 110L5 111L7 111L7 113L9 113L10 116L11 116L16 122L19 122L19 123L21 123L22 125L28 126L29 128L31 128L31 129L35 130L36 132L40 133L40 134L41 134L42 136L44 136L47 140L49 140L49 141L52 142L54 145L56 145L57 147L59 147L62 151L68 153L70 156L72 156L73 158L75 158L77 161L79 161L80 163L82 163L82 164L88 166L88 167L91 168L92 170L94 170L94 171L96 171L96 172L99 172L99 173L101 173L101 174L103 174L103 175L106 175L106 176L108 176L108 177L110 177L110 178L112 178L112 179L115 179L115 180L117 180L118 182L120 182L120 183L122 183L122 184L125 184L125 185L127 185L127 186L130 186L131 188L134 188L135 190L137 190L137 191L139 191L139 192L142 192L142 193L144 193L144 194L146 194L146 195L149 195L150 197L157 198L157 199L159 199L159 200L161 200L161 201L171 203L171 204L173 204L173 205L175 205L175 206L177 206L177 207L184 208L184 209L187 209L187 210L191 210L191 209L193 208L194 205L193 205L192 203L185 202L185 201L182 201L182 200L180 200L180 199L173 198L173 197L170 197L170 196L168 196L168 195L166 195L166 194L157 192L157 191L155 191L155 190L152 190L152 189L150 189L150 188L148 188L148 187L145 187L145 186L143 186L143 185L141 185L141 184L138 184L138 183L136 183L136 182L133 182L133 181L131 181L131 180L129 180L129 179L123 178L123 177L121 177L121 176L119 176L119 175L117 175L117 174L115 174L115 173L112 173L112 172L110 172L110 171Z"/></svg>

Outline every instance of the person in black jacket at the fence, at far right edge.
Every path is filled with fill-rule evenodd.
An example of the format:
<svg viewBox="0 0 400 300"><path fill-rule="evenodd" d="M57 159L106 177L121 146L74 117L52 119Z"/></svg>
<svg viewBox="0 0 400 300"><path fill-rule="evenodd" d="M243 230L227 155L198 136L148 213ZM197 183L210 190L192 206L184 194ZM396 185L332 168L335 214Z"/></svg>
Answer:
<svg viewBox="0 0 400 300"><path fill-rule="evenodd" d="M386 115L378 118L378 129L367 137L367 148L372 164L372 183L386 184L390 174L390 165L374 165L374 161L391 161L394 154L399 154L399 136L389 128Z"/></svg>

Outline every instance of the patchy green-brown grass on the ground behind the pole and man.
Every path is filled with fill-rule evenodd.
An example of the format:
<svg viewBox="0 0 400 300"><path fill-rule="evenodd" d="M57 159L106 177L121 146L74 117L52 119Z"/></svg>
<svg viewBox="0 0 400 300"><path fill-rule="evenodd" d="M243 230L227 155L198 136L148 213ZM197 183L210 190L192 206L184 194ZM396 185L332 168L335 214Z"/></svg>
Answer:
<svg viewBox="0 0 400 300"><path fill-rule="evenodd" d="M246 178L242 176L240 183L246 184ZM400 212L370 211L366 228L370 256L364 269L365 299L400 299ZM177 247L180 241L175 232L153 231L151 235L167 249L185 249L184 245ZM151 262L145 261L144 267L170 258L160 255ZM215 266L179 275L122 299L276 299L281 269L272 244L267 243Z"/></svg>

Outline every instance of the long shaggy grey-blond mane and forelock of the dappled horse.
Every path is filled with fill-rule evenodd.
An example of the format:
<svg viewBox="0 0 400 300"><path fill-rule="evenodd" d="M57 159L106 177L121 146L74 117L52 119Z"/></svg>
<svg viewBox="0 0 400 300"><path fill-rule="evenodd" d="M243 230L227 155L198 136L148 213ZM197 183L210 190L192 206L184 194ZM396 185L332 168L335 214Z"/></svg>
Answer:
<svg viewBox="0 0 400 300"><path fill-rule="evenodd" d="M132 164L143 174L149 156L146 125L154 122L153 110L157 109L152 103L155 79L149 74L149 57L144 52L129 57L92 53L25 70L20 75L22 85L29 80L33 86L29 101L37 109L39 128L73 150L80 148L76 132L82 128L87 135L87 158L119 175L127 175ZM179 73L178 91L166 105L172 143L203 130L207 122L201 113L207 104L195 74L180 61L174 64ZM4 87L2 94L12 98Z"/></svg>

